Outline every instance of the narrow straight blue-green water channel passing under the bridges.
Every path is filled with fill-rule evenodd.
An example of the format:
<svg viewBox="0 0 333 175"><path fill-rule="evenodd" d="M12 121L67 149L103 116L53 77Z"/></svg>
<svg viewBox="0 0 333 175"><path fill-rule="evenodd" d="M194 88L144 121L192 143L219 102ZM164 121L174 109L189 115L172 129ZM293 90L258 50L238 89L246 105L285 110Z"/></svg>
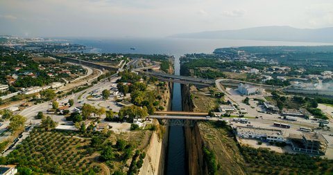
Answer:
<svg viewBox="0 0 333 175"><path fill-rule="evenodd" d="M180 75L179 57L175 59L175 74ZM173 84L172 111L182 111L182 93L179 83ZM183 175L185 169L185 136L183 127L170 127L167 149L167 175Z"/></svg>

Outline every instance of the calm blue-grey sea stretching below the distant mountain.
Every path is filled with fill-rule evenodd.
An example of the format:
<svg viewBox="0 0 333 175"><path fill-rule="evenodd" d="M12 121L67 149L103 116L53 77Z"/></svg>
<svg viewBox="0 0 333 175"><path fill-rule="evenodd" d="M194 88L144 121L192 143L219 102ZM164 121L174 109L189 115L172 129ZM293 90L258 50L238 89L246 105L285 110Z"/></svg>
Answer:
<svg viewBox="0 0 333 175"><path fill-rule="evenodd" d="M186 53L212 53L215 48L239 46L326 46L333 43L277 42L241 39L182 38L69 38L72 44L87 46L85 53L167 54L180 57Z"/></svg>

